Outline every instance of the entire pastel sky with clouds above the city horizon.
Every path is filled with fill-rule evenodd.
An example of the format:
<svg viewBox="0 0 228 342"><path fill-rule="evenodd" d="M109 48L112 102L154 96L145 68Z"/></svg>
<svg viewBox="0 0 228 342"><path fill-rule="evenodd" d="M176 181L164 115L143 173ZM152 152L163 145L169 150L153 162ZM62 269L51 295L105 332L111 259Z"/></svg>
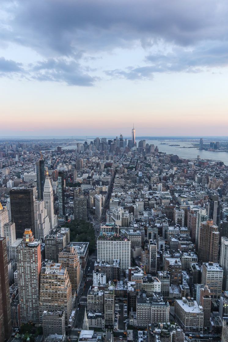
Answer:
<svg viewBox="0 0 228 342"><path fill-rule="evenodd" d="M1 0L0 136L227 136L228 2Z"/></svg>

